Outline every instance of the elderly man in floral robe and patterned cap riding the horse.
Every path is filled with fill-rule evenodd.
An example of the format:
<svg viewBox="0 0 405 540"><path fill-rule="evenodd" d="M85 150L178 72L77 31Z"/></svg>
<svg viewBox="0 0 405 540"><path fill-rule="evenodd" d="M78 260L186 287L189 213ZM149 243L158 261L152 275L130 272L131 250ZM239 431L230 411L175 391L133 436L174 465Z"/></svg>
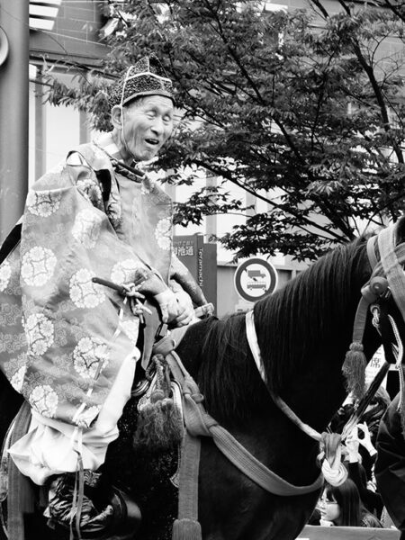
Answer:
<svg viewBox="0 0 405 540"><path fill-rule="evenodd" d="M97 470L118 437L149 318L142 301L174 326L192 320L193 302L205 302L172 253L171 200L134 168L172 133L171 81L156 57L142 58L112 85L109 100L112 131L69 152L33 185L21 241L0 266L0 302L10 313L0 329L0 367L32 414L10 455L39 485L57 478L48 512L62 523L72 517L66 473L79 461ZM156 329L146 325L143 367L149 328ZM97 527L87 502L80 524Z"/></svg>

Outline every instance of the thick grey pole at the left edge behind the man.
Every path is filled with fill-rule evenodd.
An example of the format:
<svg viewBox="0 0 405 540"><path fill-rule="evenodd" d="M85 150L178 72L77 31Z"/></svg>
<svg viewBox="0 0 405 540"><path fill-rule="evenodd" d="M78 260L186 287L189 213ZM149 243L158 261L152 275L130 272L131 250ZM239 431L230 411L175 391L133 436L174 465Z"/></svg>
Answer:
<svg viewBox="0 0 405 540"><path fill-rule="evenodd" d="M0 242L23 213L28 189L29 0L0 0L9 51L0 66ZM1 44L0 44L1 47Z"/></svg>

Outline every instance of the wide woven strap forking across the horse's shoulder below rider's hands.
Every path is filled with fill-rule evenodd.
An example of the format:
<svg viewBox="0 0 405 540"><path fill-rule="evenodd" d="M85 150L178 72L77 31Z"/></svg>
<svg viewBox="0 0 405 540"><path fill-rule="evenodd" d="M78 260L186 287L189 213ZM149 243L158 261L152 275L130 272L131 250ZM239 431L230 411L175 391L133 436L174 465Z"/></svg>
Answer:
<svg viewBox="0 0 405 540"><path fill-rule="evenodd" d="M173 525L172 540L202 539L202 530L198 522L198 472L201 437L211 437L215 446L231 464L234 464L252 482L270 493L288 497L320 490L323 484L322 473L314 482L305 486L295 486L285 481L259 462L228 430L222 428L207 413L202 404L202 393L174 350L183 335L184 329L172 330L171 334L161 339L154 347L154 353L165 357L172 376L179 383L183 401L185 429L179 471L179 506L178 518Z"/></svg>

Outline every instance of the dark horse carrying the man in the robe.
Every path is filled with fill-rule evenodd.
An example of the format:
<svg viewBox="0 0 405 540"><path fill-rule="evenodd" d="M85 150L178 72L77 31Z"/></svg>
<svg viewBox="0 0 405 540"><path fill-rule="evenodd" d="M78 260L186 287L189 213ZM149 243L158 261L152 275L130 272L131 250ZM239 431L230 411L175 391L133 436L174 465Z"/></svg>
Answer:
<svg viewBox="0 0 405 540"><path fill-rule="evenodd" d="M360 289L370 275L365 239L360 238L320 258L254 308L269 387L303 422L320 432L345 398L341 368ZM369 358L379 345L371 324L364 343ZM320 473L319 444L296 428L270 398L247 345L244 314L194 324L178 353L199 384L213 418L286 481L294 485L315 481ZM0 436L21 403L21 397L2 381ZM109 449L105 471L112 482L139 500L143 522L136 538L164 540L170 537L176 511L176 491L170 481L176 453L154 455L133 449L136 416L136 403L131 400L121 419L121 437ZM293 540L318 497L316 491L288 497L267 493L229 464L211 439L203 437L199 520L204 540ZM33 537L39 537L38 530ZM43 532L40 537L52 536Z"/></svg>

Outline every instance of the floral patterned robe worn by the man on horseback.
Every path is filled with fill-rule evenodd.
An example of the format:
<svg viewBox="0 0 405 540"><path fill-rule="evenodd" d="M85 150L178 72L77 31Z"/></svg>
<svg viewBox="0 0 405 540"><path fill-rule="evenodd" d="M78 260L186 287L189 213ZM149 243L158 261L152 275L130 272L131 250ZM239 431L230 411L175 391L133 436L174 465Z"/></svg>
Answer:
<svg viewBox="0 0 405 540"><path fill-rule="evenodd" d="M90 426L139 331L92 278L123 284L148 266L167 283L171 247L170 198L94 143L33 185L21 242L0 266L0 368L33 410Z"/></svg>

